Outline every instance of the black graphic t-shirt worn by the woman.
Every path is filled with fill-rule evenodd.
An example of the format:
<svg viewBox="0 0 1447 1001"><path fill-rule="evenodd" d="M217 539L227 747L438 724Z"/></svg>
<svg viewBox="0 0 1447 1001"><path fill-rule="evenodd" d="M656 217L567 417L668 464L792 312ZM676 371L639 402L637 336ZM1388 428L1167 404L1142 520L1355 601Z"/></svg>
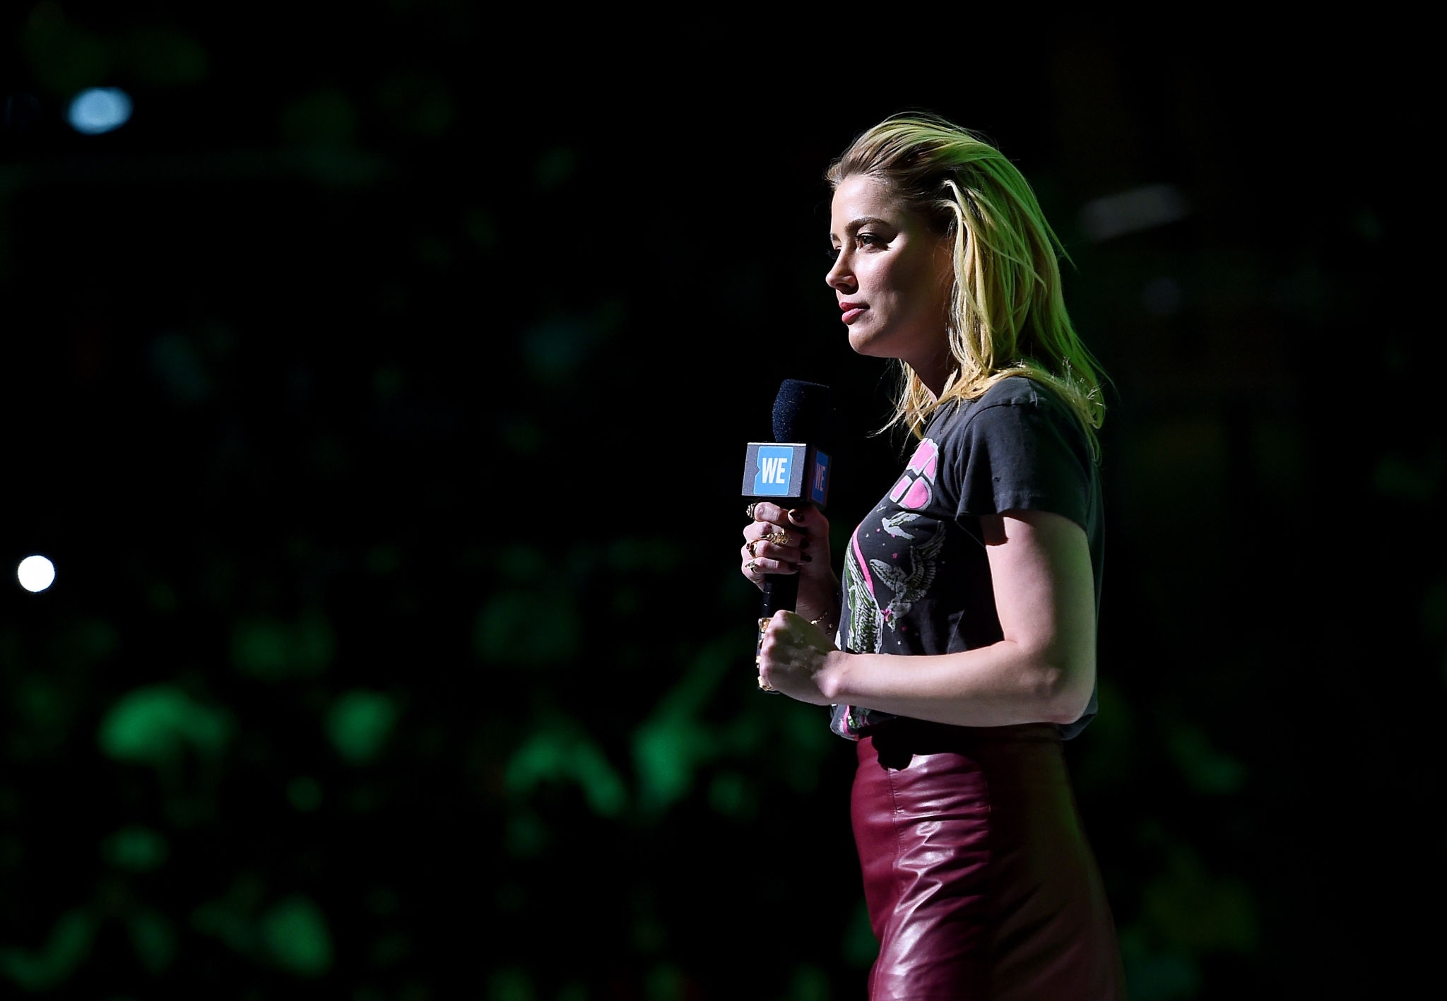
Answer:
<svg viewBox="0 0 1447 1001"><path fill-rule="evenodd" d="M930 418L904 473L849 537L844 558L841 649L949 654L1003 638L980 516L1049 511L1085 529L1100 615L1104 518L1100 472L1079 418L1051 389L1022 376ZM901 665L907 670L907 664ZM1072 738L1095 716L1062 725ZM858 739L893 719L835 706L831 728Z"/></svg>

